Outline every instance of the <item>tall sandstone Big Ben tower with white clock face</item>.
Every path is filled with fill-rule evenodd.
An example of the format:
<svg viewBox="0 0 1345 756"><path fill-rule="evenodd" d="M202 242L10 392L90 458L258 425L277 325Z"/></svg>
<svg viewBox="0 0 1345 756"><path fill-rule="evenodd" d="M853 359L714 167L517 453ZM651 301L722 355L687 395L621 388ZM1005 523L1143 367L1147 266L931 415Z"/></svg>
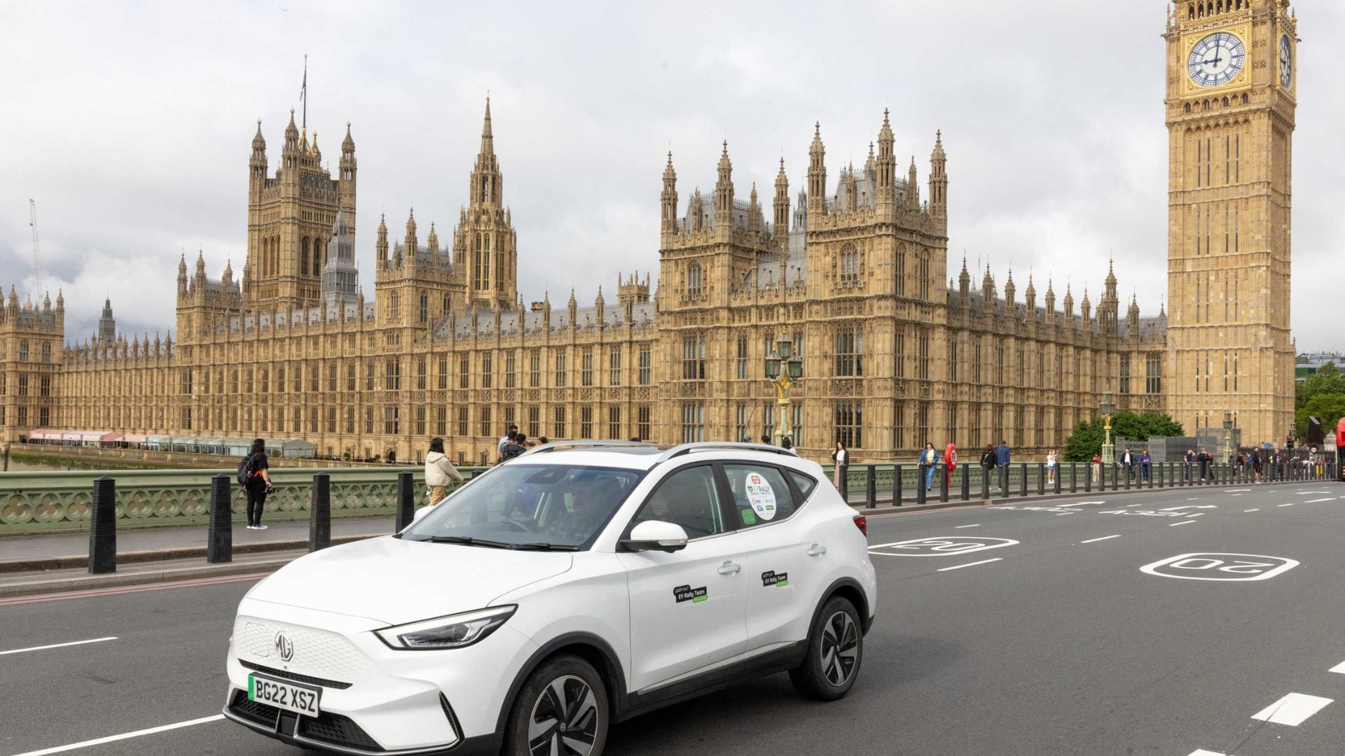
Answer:
<svg viewBox="0 0 1345 756"><path fill-rule="evenodd" d="M1188 433L1294 421L1289 0L1176 0L1167 22L1167 408Z"/></svg>

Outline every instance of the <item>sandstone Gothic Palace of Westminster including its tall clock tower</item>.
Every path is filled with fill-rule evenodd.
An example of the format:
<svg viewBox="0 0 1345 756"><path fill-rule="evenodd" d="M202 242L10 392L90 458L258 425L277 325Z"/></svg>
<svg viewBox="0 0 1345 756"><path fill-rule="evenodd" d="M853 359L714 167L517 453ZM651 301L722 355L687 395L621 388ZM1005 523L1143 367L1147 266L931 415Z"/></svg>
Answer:
<svg viewBox="0 0 1345 756"><path fill-rule="evenodd" d="M414 213L375 233L375 296L355 266L355 143L335 176L293 117L268 169L247 161L242 274L178 265L176 339L116 332L65 343L58 295L0 303L0 440L32 429L304 439L319 453L494 459L530 439L757 439L776 425L763 362L781 334L802 355L791 398L800 453L837 441L866 461L924 443L1061 447L1098 413L1170 413L1188 432L1231 412L1244 443L1276 440L1294 409L1290 156L1295 19L1287 0L1177 0L1166 32L1167 312L1122 311L989 268L950 277L950 178L940 137L927 184L904 175L884 114L861 167L829 176L820 129L806 186L784 161L769 207L742 199L728 145L714 190L663 169L659 270L592 304L523 304L490 102L451 235ZM924 196L921 196L924 194Z"/></svg>

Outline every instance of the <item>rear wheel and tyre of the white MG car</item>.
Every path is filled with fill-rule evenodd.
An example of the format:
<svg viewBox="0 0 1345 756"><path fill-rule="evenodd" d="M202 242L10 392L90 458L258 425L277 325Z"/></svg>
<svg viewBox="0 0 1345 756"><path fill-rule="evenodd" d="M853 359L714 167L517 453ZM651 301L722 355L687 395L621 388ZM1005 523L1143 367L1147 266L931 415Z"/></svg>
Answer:
<svg viewBox="0 0 1345 756"><path fill-rule="evenodd" d="M849 693L863 660L862 628L849 599L829 599L812 620L803 663L790 670L795 690L814 701L835 701Z"/></svg>

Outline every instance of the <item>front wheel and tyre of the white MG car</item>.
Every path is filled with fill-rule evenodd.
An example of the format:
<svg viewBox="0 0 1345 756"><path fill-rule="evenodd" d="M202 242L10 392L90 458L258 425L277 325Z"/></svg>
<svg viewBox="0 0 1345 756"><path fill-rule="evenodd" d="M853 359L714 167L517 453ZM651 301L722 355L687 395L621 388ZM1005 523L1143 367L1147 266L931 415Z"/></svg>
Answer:
<svg viewBox="0 0 1345 756"><path fill-rule="evenodd" d="M601 756L608 720L607 685L593 665L572 654L551 656L519 689L502 753Z"/></svg>

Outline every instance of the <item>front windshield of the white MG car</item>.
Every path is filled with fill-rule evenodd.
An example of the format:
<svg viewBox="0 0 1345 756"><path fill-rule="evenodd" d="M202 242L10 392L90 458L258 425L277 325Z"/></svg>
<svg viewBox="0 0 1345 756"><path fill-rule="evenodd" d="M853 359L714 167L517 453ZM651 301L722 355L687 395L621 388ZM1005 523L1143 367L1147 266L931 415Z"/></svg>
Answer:
<svg viewBox="0 0 1345 756"><path fill-rule="evenodd" d="M508 549L582 549L597 537L643 471L566 464L496 467L402 533Z"/></svg>

